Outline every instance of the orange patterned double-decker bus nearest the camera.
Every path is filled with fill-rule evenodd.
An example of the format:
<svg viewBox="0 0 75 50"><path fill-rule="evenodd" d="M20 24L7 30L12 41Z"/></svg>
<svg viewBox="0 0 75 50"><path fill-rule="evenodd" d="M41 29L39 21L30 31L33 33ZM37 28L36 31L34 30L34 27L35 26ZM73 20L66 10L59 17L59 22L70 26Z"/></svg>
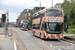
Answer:
<svg viewBox="0 0 75 50"><path fill-rule="evenodd" d="M62 9L43 9L33 14L32 33L42 39L63 39L64 12Z"/></svg>

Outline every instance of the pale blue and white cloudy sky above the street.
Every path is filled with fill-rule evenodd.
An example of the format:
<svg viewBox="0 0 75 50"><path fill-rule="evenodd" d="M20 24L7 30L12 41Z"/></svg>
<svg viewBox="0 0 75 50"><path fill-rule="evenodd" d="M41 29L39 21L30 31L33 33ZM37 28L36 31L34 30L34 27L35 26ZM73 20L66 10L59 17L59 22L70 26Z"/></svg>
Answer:
<svg viewBox="0 0 75 50"><path fill-rule="evenodd" d="M64 0L53 0L56 3L63 3ZM24 9L33 9L39 5L40 0L0 0L0 17L9 11L9 22L16 22L16 19ZM50 8L52 0L41 0L41 7Z"/></svg>

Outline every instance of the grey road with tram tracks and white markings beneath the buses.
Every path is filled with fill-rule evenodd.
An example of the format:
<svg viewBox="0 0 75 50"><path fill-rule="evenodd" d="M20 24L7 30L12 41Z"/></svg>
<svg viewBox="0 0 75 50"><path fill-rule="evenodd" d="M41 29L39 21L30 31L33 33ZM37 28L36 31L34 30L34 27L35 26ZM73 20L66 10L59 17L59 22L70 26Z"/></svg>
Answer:
<svg viewBox="0 0 75 50"><path fill-rule="evenodd" d="M16 34L18 50L75 50L75 44L63 40L42 40L33 36L32 32L11 28Z"/></svg>

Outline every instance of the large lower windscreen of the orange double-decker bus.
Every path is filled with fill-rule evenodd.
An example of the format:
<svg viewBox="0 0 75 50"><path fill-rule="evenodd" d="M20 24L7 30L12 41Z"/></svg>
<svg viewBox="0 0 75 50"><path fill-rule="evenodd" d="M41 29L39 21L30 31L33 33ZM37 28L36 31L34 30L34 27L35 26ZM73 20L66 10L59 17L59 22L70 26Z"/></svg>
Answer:
<svg viewBox="0 0 75 50"><path fill-rule="evenodd" d="M45 23L45 30L48 32L62 32L63 31L63 23Z"/></svg>

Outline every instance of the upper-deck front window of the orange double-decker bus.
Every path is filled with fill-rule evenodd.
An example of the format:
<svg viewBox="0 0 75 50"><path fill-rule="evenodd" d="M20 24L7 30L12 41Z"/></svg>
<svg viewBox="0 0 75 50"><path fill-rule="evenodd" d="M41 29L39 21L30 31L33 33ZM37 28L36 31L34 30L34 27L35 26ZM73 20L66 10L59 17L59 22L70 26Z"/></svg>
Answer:
<svg viewBox="0 0 75 50"><path fill-rule="evenodd" d="M58 16L58 17L62 17L62 10L46 9L46 16Z"/></svg>

